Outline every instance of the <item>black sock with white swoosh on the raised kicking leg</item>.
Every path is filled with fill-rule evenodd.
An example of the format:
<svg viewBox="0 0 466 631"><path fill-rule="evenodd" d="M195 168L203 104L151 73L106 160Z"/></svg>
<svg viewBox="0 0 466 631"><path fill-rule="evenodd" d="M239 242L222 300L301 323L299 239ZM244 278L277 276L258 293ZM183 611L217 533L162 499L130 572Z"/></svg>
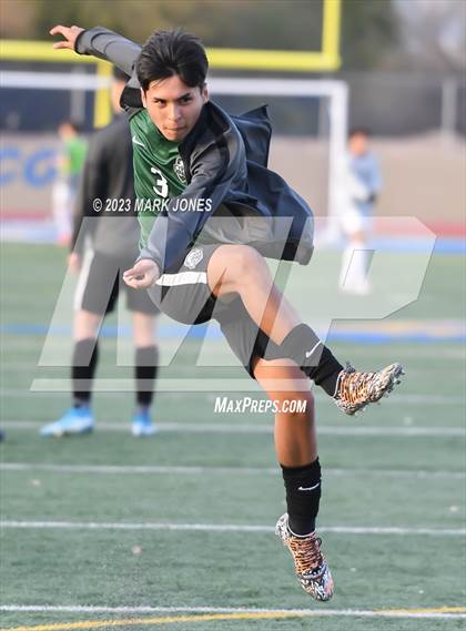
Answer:
<svg viewBox="0 0 466 631"><path fill-rule="evenodd" d="M331 397L335 395L343 366L310 326L295 326L282 342L280 349L285 357L293 359L316 386L324 388Z"/></svg>

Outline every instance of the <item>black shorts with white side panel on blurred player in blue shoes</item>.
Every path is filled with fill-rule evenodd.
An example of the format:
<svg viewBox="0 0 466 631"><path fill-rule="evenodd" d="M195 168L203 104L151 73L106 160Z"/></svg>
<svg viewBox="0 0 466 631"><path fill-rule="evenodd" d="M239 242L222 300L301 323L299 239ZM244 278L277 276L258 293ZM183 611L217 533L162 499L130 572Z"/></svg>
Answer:
<svg viewBox="0 0 466 631"><path fill-rule="evenodd" d="M146 292L133 289L123 281L123 272L133 265L134 257L115 257L88 251L83 257L74 295L74 308L97 315L109 314L115 306L120 291L123 291L130 312L156 315L159 309Z"/></svg>

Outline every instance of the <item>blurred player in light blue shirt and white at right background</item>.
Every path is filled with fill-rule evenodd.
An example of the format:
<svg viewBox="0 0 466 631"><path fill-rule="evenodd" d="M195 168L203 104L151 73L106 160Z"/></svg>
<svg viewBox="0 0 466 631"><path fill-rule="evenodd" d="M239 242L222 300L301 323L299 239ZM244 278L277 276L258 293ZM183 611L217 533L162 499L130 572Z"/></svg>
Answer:
<svg viewBox="0 0 466 631"><path fill-rule="evenodd" d="M340 287L353 294L368 294L368 238L375 201L382 189L378 161L371 151L369 132L352 130L347 159L343 163L337 194L340 225L348 240L343 252Z"/></svg>

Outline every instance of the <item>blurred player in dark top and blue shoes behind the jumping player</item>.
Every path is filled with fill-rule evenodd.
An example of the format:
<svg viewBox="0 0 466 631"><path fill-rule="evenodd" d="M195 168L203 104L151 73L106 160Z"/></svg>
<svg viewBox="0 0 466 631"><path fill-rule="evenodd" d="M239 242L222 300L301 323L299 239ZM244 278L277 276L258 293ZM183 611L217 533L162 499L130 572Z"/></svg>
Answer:
<svg viewBox="0 0 466 631"><path fill-rule="evenodd" d="M134 216L130 126L119 105L128 79L126 74L114 69L111 100L115 118L92 136L78 192L72 252L68 261L73 272L80 272L71 368L73 405L59 420L42 427L41 436L83 434L93 429L90 403L98 364L97 338L103 318L113 311L120 291L126 294L126 305L133 314L136 410L132 434L151 436L155 431L150 406L158 370L154 315L159 312L145 292L132 289L121 277L138 256L140 236ZM125 211L105 213L103 208L97 214L93 211L94 200L101 200L103 205L105 200L114 200L122 203ZM88 241L92 248L84 253Z"/></svg>

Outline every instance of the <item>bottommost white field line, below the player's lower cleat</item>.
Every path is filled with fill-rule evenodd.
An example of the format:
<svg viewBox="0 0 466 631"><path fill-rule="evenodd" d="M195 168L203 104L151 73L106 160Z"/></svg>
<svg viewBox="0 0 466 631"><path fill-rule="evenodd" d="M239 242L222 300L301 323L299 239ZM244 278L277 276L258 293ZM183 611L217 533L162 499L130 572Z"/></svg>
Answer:
<svg viewBox="0 0 466 631"><path fill-rule="evenodd" d="M457 610L455 612L455 610ZM227 607L90 607L51 604L0 604L2 612L21 613L295 613L306 618L425 618L464 619L463 607L419 609L246 609Z"/></svg>

